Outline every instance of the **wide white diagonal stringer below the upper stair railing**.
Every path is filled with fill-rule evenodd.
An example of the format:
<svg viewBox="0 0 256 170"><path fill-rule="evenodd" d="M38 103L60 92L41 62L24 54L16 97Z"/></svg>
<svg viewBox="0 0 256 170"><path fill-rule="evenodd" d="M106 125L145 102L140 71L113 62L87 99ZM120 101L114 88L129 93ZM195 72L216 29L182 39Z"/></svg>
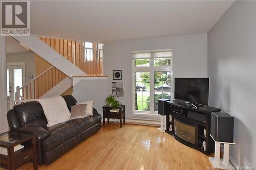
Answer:
<svg viewBox="0 0 256 170"><path fill-rule="evenodd" d="M35 36L12 36L20 43L27 46L31 51L48 61L54 67L62 71L68 77L87 76L80 68L57 53L52 47Z"/></svg>

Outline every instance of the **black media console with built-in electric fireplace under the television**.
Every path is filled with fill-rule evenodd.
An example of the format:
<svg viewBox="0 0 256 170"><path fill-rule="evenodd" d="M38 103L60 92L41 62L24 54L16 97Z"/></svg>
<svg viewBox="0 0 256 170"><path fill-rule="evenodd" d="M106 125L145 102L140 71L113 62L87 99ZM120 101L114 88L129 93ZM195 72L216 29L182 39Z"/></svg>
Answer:
<svg viewBox="0 0 256 170"><path fill-rule="evenodd" d="M214 153L214 140L210 137L210 115L211 112L220 112L221 109L208 106L195 108L180 100L163 103L166 115L165 132L206 155Z"/></svg>

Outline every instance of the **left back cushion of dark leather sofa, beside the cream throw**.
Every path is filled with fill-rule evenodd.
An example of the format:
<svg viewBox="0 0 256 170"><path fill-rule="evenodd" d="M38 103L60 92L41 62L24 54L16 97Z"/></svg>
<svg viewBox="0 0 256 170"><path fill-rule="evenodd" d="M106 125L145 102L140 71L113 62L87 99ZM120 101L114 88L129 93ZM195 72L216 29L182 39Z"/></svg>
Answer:
<svg viewBox="0 0 256 170"><path fill-rule="evenodd" d="M13 107L20 125L46 128L47 120L41 105L36 102L26 102Z"/></svg>

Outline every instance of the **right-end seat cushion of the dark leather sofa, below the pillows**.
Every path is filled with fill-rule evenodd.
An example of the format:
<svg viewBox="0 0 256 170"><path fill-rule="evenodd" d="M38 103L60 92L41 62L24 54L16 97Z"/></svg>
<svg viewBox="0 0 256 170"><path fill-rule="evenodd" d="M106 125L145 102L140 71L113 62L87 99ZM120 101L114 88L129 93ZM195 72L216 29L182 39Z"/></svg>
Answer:
<svg viewBox="0 0 256 170"><path fill-rule="evenodd" d="M66 123L78 124L80 126L80 132L82 132L96 125L99 122L101 122L101 115L97 113L97 114L94 114L93 116L71 119Z"/></svg>

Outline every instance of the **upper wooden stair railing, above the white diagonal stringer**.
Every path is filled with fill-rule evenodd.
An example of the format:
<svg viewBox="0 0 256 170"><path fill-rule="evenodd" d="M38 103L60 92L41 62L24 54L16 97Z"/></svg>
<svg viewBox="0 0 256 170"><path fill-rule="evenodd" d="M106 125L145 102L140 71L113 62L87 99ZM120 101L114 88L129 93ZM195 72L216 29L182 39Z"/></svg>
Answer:
<svg viewBox="0 0 256 170"><path fill-rule="evenodd" d="M84 46L85 42L39 37L46 44L51 46L56 52L86 72L88 76L102 76L103 66L102 49L97 48L97 43L93 43L92 48ZM88 56L90 54L90 56Z"/></svg>

